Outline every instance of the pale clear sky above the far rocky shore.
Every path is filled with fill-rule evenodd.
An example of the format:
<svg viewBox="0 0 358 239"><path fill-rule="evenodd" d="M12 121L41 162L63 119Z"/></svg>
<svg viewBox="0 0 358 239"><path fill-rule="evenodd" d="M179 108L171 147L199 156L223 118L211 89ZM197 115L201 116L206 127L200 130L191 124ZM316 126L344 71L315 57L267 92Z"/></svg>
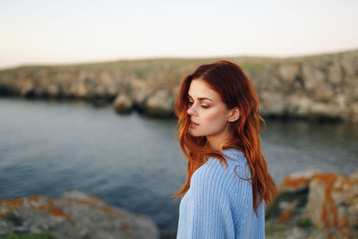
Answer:
<svg viewBox="0 0 358 239"><path fill-rule="evenodd" d="M0 0L0 69L349 49L357 0Z"/></svg>

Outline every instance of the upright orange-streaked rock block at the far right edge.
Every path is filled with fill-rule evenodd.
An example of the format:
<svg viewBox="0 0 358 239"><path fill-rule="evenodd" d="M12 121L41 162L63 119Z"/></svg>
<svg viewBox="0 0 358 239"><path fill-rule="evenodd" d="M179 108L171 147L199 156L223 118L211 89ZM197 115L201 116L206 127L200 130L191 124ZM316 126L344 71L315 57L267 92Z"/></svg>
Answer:
<svg viewBox="0 0 358 239"><path fill-rule="evenodd" d="M333 173L314 175L306 211L315 226L350 230L358 225L358 179Z"/></svg>

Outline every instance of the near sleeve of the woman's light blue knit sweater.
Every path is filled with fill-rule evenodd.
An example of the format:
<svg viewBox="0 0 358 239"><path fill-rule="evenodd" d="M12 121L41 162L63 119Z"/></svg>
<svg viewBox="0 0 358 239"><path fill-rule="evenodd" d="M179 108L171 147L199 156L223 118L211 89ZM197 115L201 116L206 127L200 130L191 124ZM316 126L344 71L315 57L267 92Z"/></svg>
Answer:
<svg viewBox="0 0 358 239"><path fill-rule="evenodd" d="M194 172L186 238L234 238L224 168L213 160Z"/></svg>

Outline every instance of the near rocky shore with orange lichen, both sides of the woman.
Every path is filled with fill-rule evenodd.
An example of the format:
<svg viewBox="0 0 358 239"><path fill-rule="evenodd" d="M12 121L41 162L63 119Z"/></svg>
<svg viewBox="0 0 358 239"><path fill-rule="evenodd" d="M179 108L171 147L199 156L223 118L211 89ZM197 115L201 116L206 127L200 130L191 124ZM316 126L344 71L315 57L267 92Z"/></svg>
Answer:
<svg viewBox="0 0 358 239"><path fill-rule="evenodd" d="M358 237L358 170L349 176L319 169L295 172L287 175L278 189L277 199L265 209L266 238ZM33 195L0 200L0 238L16 235L38 239L171 239L176 233L159 232L148 217L71 190L56 199Z"/></svg>

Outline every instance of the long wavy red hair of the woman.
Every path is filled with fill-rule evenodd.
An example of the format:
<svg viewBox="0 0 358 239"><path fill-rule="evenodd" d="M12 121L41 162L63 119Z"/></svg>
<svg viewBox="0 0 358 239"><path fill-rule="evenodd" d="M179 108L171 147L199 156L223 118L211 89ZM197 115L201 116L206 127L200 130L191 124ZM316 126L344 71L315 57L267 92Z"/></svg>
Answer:
<svg viewBox="0 0 358 239"><path fill-rule="evenodd" d="M225 155L218 150L209 149L205 136L194 137L189 133L188 91L194 79L208 83L209 87L217 91L229 109L239 108L240 118L229 124L234 138L227 141L223 149L239 149L246 156L251 168L251 178L236 175L243 180L251 180L253 209L257 215L257 208L261 201L264 200L268 205L277 195L276 184L268 173L268 166L260 149L260 122L265 127L266 123L259 115L256 90L241 67L229 61L202 64L183 79L178 98L175 100L175 115L178 117L176 130L179 133L180 146L188 159L187 178L174 197L182 197L189 190L192 174L210 157L218 158L221 164L227 166Z"/></svg>

